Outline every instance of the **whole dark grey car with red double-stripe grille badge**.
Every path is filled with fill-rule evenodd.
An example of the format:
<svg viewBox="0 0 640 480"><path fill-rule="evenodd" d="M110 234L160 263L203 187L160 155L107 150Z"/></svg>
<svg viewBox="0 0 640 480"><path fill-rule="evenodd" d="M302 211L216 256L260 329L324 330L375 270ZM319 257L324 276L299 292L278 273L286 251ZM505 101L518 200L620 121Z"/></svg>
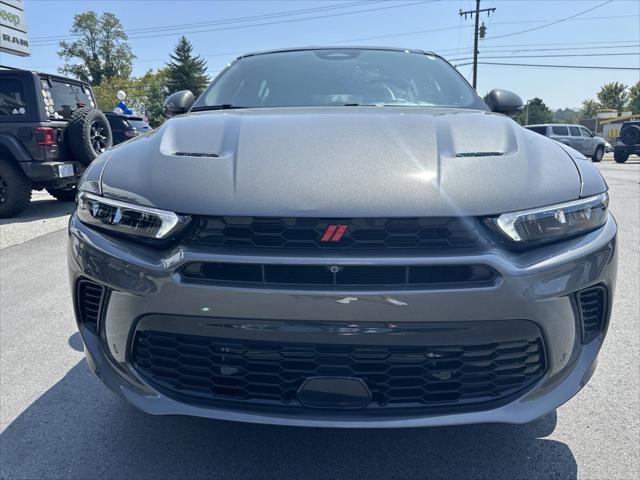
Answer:
<svg viewBox="0 0 640 480"><path fill-rule="evenodd" d="M89 366L151 414L523 423L589 380L616 223L572 148L439 56L245 55L91 164L68 260Z"/></svg>

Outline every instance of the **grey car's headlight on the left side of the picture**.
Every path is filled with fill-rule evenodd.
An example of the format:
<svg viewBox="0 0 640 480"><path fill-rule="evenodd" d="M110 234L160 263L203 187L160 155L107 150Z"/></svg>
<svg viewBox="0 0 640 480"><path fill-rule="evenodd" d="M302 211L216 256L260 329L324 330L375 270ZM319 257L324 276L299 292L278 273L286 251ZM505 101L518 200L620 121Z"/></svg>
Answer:
<svg viewBox="0 0 640 480"><path fill-rule="evenodd" d="M96 228L150 240L166 240L189 224L191 217L157 208L142 207L100 197L78 194L78 218Z"/></svg>

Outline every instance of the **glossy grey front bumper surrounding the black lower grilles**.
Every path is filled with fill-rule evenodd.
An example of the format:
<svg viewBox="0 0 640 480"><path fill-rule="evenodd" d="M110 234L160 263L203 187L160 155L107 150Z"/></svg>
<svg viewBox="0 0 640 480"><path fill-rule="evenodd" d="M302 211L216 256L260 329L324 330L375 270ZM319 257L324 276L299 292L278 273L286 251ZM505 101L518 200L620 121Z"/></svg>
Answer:
<svg viewBox="0 0 640 480"><path fill-rule="evenodd" d="M99 335L80 324L92 370L113 391L152 414L184 414L224 420L320 427L415 427L468 423L526 423L562 405L591 377L607 325L597 338L582 343L574 293L602 284L609 291L607 323L616 275L617 227L613 217L599 230L529 252L498 248L425 257L242 257L199 249L160 251L114 239L70 220L69 267L72 286L80 278L109 288ZM185 283L177 271L189 262L261 262L333 264L482 264L499 275L490 288L429 290L304 291L239 288ZM546 373L519 397L484 410L458 413L376 413L367 409L255 410L241 404L202 405L166 395L136 371L130 358L139 324L152 314L174 318L178 331L196 325L242 323L247 319L288 324L389 322L396 325L487 324L528 320L539 327L546 348ZM141 320L142 319L142 320ZM181 320L189 319L189 320ZM203 327L204 325L204 327ZM315 337L310 340L315 341Z"/></svg>

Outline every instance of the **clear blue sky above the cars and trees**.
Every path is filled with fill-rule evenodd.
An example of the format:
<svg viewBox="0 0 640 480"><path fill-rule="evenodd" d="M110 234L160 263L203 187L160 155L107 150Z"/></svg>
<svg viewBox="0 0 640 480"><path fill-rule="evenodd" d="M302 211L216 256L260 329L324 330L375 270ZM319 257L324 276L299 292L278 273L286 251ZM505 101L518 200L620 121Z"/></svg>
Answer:
<svg viewBox="0 0 640 480"><path fill-rule="evenodd" d="M435 51L470 62L475 0L25 0L32 55L0 53L0 64L56 72L57 42L73 16L113 12L136 55L133 74L165 65L180 35L213 77L242 53L307 45L376 45ZM640 1L482 0L480 62L626 67L569 69L480 64L478 92L505 88L551 108L579 108L600 86L640 80ZM302 11L301 11L302 10ZM256 18L258 17L258 18ZM562 55L562 56L559 56ZM500 58L495 58L500 57ZM458 67L471 82L472 67Z"/></svg>

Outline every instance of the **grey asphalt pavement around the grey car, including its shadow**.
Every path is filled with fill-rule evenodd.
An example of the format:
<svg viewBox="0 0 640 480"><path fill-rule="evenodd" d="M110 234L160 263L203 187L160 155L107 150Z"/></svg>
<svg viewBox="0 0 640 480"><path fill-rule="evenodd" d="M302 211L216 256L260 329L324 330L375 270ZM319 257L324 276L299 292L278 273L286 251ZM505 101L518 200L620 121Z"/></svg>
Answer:
<svg viewBox="0 0 640 480"><path fill-rule="evenodd" d="M153 417L93 377L66 273L72 204L0 221L0 478L640 478L640 162L602 162L618 289L598 369L528 425L331 430Z"/></svg>

